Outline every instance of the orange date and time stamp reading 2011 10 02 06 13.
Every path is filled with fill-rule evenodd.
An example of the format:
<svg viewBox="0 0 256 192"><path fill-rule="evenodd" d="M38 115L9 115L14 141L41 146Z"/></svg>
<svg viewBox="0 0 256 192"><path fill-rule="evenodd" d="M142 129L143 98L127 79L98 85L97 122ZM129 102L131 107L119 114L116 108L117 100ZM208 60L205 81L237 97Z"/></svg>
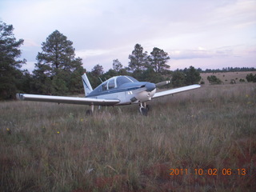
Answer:
<svg viewBox="0 0 256 192"><path fill-rule="evenodd" d="M223 169L170 169L170 175L246 175L247 170L244 168L239 169L230 169L230 168L223 168Z"/></svg>

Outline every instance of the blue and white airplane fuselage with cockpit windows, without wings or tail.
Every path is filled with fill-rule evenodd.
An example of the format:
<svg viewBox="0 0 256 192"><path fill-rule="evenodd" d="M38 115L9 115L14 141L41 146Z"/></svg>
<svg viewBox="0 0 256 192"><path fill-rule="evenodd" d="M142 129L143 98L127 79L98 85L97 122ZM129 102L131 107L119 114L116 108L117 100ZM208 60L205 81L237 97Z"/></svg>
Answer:
<svg viewBox="0 0 256 192"><path fill-rule="evenodd" d="M86 98L118 99L116 105L129 105L138 102L147 102L154 96L154 83L138 82L130 76L118 76L102 82Z"/></svg>

